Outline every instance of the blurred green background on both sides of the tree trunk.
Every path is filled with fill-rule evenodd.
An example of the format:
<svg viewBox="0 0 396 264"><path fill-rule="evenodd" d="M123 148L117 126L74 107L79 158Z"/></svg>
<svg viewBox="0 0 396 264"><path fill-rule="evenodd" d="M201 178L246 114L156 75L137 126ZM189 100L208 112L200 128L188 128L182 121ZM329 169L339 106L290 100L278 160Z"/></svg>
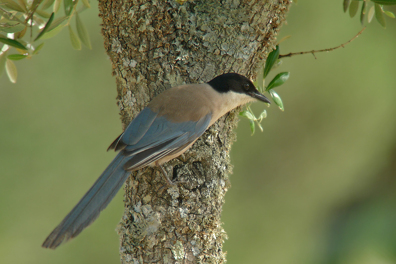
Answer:
<svg viewBox="0 0 396 264"><path fill-rule="evenodd" d="M41 248L112 160L105 150L122 128L97 7L82 19L92 50L73 50L63 30L16 61L16 84L0 79L0 263L119 263L123 191L76 239ZM285 112L271 105L262 133L250 136L247 120L237 129L228 264L396 263L396 23L386 19L386 30L374 18L345 48L285 58L270 73L291 72L276 89ZM360 30L342 0L300 0L278 40L292 36L284 54Z"/></svg>

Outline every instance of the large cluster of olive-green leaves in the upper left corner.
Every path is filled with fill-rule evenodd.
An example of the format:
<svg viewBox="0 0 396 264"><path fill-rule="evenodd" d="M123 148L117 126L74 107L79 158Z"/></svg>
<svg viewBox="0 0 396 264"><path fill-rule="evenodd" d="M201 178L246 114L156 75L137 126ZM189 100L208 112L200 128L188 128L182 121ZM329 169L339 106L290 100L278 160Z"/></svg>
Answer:
<svg viewBox="0 0 396 264"><path fill-rule="evenodd" d="M81 49L81 42L92 48L79 16L91 7L89 0L63 0L64 15L58 13L61 5L62 0L0 0L0 76L5 69L9 80L15 83L13 61L36 55L44 45L40 40L55 36L66 26L75 49ZM77 34L70 25L73 17Z"/></svg>

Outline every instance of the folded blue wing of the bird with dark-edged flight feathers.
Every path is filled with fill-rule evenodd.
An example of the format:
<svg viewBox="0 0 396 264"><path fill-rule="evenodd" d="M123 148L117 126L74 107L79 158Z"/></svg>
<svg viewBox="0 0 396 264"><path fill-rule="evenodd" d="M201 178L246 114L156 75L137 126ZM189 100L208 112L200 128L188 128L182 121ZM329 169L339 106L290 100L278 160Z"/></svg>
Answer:
<svg viewBox="0 0 396 264"><path fill-rule="evenodd" d="M149 108L142 110L109 147L129 157L125 170L135 171L167 155L177 153L205 132L211 113L197 122L175 123Z"/></svg>

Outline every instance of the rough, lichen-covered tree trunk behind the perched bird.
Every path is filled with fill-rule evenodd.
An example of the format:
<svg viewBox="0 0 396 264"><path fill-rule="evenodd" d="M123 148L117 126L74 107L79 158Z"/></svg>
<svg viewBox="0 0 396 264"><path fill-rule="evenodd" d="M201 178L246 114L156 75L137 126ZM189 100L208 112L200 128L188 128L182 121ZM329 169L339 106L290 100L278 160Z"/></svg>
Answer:
<svg viewBox="0 0 396 264"><path fill-rule="evenodd" d="M226 72L256 74L290 0L99 0L104 45L117 77L124 128L166 88L203 83ZM134 172L126 182L118 232L122 263L224 263L220 213L230 187L231 112L184 155L158 170Z"/></svg>

